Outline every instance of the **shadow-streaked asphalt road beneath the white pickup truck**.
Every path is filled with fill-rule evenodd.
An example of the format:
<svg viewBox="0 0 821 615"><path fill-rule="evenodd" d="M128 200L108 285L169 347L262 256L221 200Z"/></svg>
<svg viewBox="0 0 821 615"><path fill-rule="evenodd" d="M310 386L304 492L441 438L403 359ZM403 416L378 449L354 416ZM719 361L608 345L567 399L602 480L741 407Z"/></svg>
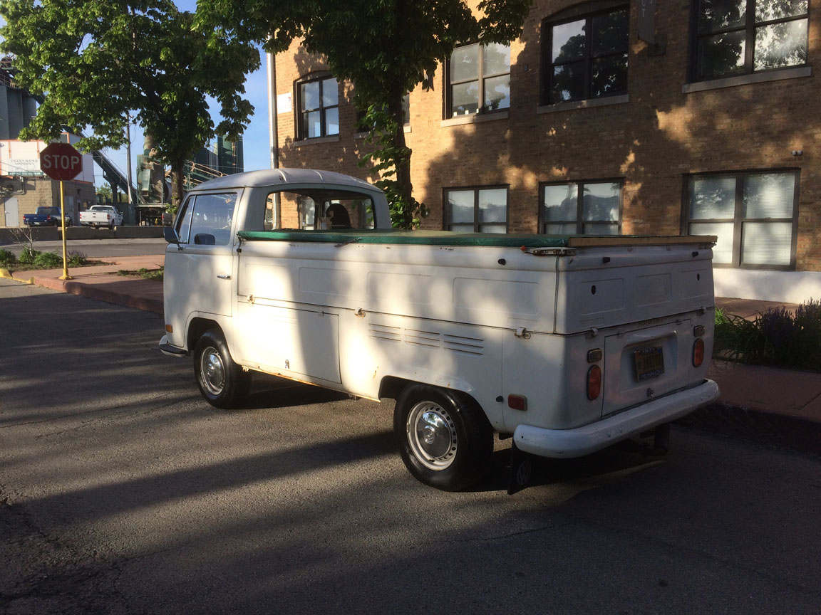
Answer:
<svg viewBox="0 0 821 615"><path fill-rule="evenodd" d="M154 314L0 280L0 612L819 613L821 460L674 427L508 496L414 481L392 403L210 408Z"/></svg>

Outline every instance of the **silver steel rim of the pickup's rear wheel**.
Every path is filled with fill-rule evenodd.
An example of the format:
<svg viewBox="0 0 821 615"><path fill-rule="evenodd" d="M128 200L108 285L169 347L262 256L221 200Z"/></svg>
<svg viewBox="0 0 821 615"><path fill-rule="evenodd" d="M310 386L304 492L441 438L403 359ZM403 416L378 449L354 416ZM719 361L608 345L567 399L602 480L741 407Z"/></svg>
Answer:
<svg viewBox="0 0 821 615"><path fill-rule="evenodd" d="M456 425L438 403L425 401L410 408L406 436L410 452L429 470L444 470L456 459Z"/></svg>

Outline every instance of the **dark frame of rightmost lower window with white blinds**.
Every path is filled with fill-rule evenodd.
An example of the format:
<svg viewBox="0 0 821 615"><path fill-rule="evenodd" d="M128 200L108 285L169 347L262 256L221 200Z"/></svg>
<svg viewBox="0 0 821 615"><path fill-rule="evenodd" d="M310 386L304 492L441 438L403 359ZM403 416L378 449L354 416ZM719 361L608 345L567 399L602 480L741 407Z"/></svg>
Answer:
<svg viewBox="0 0 821 615"><path fill-rule="evenodd" d="M750 175L783 175L792 174L795 176L795 186L792 195L792 217L791 218L745 218L744 214L744 180ZM734 178L736 188L733 204L732 218L697 218L690 217L690 202L692 197L693 180L699 177L724 177ZM748 171L718 171L713 173L690 173L684 176L683 203L681 207L681 234L690 235L690 224L701 223L727 223L732 222L732 262L713 262L714 267L732 269L760 269L768 271L795 271L796 251L798 247L798 209L800 195L800 169L791 167L787 169L750 169ZM788 265L760 265L757 263L745 264L741 262L743 250L742 240L745 223L783 223L789 221L791 224L790 241L790 263Z"/></svg>

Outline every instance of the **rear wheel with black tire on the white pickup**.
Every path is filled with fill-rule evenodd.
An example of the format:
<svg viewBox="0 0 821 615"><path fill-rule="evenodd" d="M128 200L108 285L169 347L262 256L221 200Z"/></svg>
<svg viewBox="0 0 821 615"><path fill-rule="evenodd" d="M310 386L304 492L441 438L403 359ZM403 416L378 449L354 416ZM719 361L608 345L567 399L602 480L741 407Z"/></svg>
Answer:
<svg viewBox="0 0 821 615"><path fill-rule="evenodd" d="M393 411L393 435L408 471L425 485L460 491L488 472L493 428L460 391L408 386Z"/></svg>

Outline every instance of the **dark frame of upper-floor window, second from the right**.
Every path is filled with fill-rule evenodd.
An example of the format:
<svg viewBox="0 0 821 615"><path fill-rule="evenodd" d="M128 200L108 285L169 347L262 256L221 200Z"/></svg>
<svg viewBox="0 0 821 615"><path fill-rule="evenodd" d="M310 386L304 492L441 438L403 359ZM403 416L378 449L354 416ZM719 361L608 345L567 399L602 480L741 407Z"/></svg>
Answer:
<svg viewBox="0 0 821 615"><path fill-rule="evenodd" d="M697 1L697 0L696 0ZM605 53L594 57L592 36L593 36L593 19L594 17L607 15L616 11L627 12L627 33L626 33L626 54L627 54L627 71L629 75L630 70L630 5L624 2L595 2L576 7L574 11L561 11L554 16L545 17L541 22L542 33L542 48L541 48L541 88L539 92L540 105L558 105L562 103L578 103L585 100L606 100L615 96L624 96L629 93L629 76L625 83L625 89L617 90L612 93L606 93L603 96L591 97L591 89L593 84L593 62L594 60L603 57L616 57L621 53ZM558 25L565 25L573 21L580 21L584 19L585 27L585 95L583 98L568 98L566 100L553 101L553 67L561 66L562 64L569 64L571 62L553 62L553 28ZM577 60L575 62L578 62Z"/></svg>

